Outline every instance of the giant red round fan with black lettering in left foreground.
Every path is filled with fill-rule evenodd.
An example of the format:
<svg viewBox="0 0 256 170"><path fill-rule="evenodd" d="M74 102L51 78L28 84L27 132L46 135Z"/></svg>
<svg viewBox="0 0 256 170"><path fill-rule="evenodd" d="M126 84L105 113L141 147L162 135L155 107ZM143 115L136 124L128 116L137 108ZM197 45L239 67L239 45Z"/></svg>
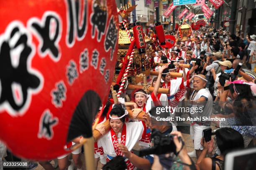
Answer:
<svg viewBox="0 0 256 170"><path fill-rule="evenodd" d="M0 19L0 140L31 160L69 153L67 142L92 136L109 95L115 0L8 0Z"/></svg>

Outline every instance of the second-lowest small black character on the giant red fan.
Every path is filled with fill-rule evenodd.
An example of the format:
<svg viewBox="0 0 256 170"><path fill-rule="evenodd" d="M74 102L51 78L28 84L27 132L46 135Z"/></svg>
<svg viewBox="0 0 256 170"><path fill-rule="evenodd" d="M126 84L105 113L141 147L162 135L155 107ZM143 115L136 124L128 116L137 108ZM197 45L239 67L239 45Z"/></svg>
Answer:
<svg viewBox="0 0 256 170"><path fill-rule="evenodd" d="M56 85L56 89L51 92L52 95L52 102L55 105L55 107L62 107L62 101L66 100L66 87L64 85L64 82L59 82Z"/></svg>

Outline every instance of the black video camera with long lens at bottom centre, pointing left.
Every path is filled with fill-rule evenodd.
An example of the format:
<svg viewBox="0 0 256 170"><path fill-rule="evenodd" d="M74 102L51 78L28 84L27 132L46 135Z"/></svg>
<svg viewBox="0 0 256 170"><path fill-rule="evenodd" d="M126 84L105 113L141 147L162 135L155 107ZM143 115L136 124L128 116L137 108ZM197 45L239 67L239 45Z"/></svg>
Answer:
<svg viewBox="0 0 256 170"><path fill-rule="evenodd" d="M153 146L148 149L139 151L139 156L151 154L161 155L165 153L176 153L176 145L173 141L173 135L163 135L159 130L153 129L151 133L151 141ZM179 137L179 140L182 138Z"/></svg>

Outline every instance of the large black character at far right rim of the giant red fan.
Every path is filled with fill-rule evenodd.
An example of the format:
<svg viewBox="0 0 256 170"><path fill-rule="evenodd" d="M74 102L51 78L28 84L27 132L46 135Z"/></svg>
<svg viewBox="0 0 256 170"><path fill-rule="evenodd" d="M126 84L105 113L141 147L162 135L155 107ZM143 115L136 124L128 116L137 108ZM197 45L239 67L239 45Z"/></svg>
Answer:
<svg viewBox="0 0 256 170"><path fill-rule="evenodd" d="M111 47L110 60L113 60L113 52L115 51L115 44L117 42L118 29L115 27L115 22L113 16L110 19L108 25L107 35L105 36L105 50L108 51Z"/></svg>

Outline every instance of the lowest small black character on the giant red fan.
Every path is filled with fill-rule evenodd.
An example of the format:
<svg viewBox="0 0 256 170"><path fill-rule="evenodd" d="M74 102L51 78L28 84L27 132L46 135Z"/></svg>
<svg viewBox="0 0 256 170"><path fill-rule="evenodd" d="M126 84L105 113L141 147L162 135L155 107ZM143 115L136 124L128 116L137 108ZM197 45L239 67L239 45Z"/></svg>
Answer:
<svg viewBox="0 0 256 170"><path fill-rule="evenodd" d="M53 127L58 123L58 118L53 117L49 110L44 111L39 122L38 138L51 140L54 136Z"/></svg>

